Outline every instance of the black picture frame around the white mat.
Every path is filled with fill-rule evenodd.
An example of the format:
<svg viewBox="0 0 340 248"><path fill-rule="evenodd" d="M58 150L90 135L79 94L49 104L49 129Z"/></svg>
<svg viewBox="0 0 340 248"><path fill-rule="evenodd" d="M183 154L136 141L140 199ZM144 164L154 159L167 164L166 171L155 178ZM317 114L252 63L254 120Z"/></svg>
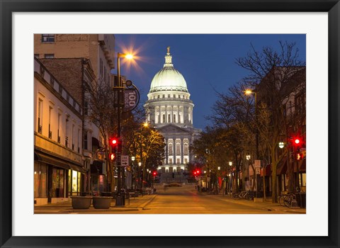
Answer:
<svg viewBox="0 0 340 248"><path fill-rule="evenodd" d="M1 247L339 247L339 0L0 0L0 245ZM327 237L17 237L12 235L13 12L328 12L329 235ZM317 228L317 223L315 223ZM271 227L268 227L271 228Z"/></svg>

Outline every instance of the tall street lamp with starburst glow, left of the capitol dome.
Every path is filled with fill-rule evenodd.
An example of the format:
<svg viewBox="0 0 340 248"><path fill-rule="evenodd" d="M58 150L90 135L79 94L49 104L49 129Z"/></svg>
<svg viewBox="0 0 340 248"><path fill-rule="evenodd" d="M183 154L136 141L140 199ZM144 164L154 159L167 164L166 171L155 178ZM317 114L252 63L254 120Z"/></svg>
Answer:
<svg viewBox="0 0 340 248"><path fill-rule="evenodd" d="M132 55L126 55L125 53L120 53L118 52L117 53L117 82L116 84L113 86L113 91L117 91L117 125L118 125L118 128L117 128L117 132L118 132L118 139L121 139L121 123L120 123L120 111L121 111L121 108L124 107L124 104L121 103L121 101L123 101L123 91L124 91L124 87L123 87L123 84L122 84L122 81L120 79L120 58L121 57L125 57L127 58L128 60L131 60L132 59ZM115 205L124 205L123 203L123 197L120 196L120 191L121 191L121 186L122 186L122 183L124 184L124 176L123 176L123 180L122 180L122 170L121 170L121 163L122 163L122 160L121 160L121 154L122 154L122 141L120 140L120 142L118 142L118 151L117 151L117 167L118 167L118 187L117 187L117 190L118 190L118 193L117 193L117 197L116 197L116 201L115 201ZM124 171L123 171L123 174L124 174Z"/></svg>

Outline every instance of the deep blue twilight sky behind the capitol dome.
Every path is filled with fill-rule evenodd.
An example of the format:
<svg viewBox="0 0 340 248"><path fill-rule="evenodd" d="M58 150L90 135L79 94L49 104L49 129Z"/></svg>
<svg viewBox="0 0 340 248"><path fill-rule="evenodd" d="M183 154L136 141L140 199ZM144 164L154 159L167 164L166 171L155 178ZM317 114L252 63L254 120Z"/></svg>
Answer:
<svg viewBox="0 0 340 248"><path fill-rule="evenodd" d="M181 72L193 108L193 125L209 125L205 116L217 100L213 88L226 92L229 86L241 80L248 71L237 66L235 60L245 57L254 45L256 50L271 46L279 50L279 41L295 42L300 60L306 57L306 36L303 35L115 35L116 50L133 50L136 60L132 64L121 61L120 72L140 89L141 102L147 100L154 74L163 68L166 47L170 46L172 63Z"/></svg>

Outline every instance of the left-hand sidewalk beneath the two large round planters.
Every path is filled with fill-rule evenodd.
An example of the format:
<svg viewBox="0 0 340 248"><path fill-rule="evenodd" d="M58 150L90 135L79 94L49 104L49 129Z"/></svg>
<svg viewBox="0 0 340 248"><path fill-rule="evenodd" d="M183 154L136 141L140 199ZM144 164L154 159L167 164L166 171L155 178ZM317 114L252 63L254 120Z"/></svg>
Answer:
<svg viewBox="0 0 340 248"><path fill-rule="evenodd" d="M72 201L60 203L49 203L47 205L38 205L34 207L35 213L86 213L86 212L121 212L121 211L138 211L142 210L157 195L145 195L125 199L125 205L115 206L115 199L111 201L111 207L108 209L96 209L91 204L89 209L73 209Z"/></svg>

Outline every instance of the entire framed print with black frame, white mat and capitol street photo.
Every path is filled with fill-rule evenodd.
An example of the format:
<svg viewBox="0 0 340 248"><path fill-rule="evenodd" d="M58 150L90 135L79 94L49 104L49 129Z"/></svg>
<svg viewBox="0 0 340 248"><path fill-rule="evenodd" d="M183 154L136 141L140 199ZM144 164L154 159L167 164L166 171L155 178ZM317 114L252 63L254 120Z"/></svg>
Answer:
<svg viewBox="0 0 340 248"><path fill-rule="evenodd" d="M339 247L339 11L335 0L1 1L1 247ZM261 50L262 45L273 44L273 37L290 37L293 43L278 43L283 55ZM132 64L138 71L135 75L124 68L130 41L142 54L135 57L141 63ZM62 43L67 48L60 48ZM259 72L254 67L257 60L263 61L256 52L259 49L267 58L280 61L264 70L266 77L257 79L262 86L254 74L245 76L251 70ZM299 49L305 62L294 57ZM98 60L91 60L92 54ZM286 153L276 147L270 155L263 148L269 135L262 131L266 130L263 125L271 125L265 121L269 119L266 110L274 107L263 104L266 97L261 87L275 81L269 77L285 78L288 67L280 66L284 59L295 62L285 87L296 81L294 89L303 82L304 86L298 94L286 94L283 87L284 99L294 96L283 108L287 110L293 102L294 111L300 113L297 117L305 113L298 135L283 134L283 129L277 132L278 139L285 137L278 146L287 145ZM232 64L244 71L236 72ZM94 109L106 111L95 104L106 96L93 94L91 88L101 81L115 92L113 100L104 104L112 104L116 111L110 119L117 127L113 130L111 126L97 130L84 121ZM216 130L223 130L216 116L222 109L221 99L227 99L223 108L235 103L225 92L233 92L236 81L249 94L241 97L251 106L250 141L245 141L245 135L222 133L214 149L201 149L197 144L206 145ZM124 98L124 106L119 100L116 103L116 96L123 97L122 88L125 93L139 92L140 97ZM85 91L98 96L95 103ZM268 97L266 103L273 104L276 97ZM145 101L140 105L146 117L141 119L146 118L147 125L128 126L120 118L127 118L138 101ZM206 112L201 113L203 108ZM214 113L216 121L210 129L200 124L199 131L193 121L203 123L203 115L211 118ZM283 125L289 114L282 114L285 118L280 115L277 120L273 112L268 115ZM222 118L225 115L220 113ZM91 120L98 116L91 115ZM94 122L96 126L102 126L100 121ZM294 119L294 125L298 121ZM135 135L130 147L120 139L125 135L127 140L128 134ZM206 140L191 142L196 135L206 135ZM147 137L159 137L154 155ZM229 152L232 145L224 142L232 137L236 137L234 144L243 142L242 152L237 153L241 148ZM112 143L103 145L106 142ZM221 149L223 144L227 148ZM133 153L131 147L135 147ZM126 150L130 157L125 156ZM61 151L64 157L53 151ZM285 159L276 161L280 154ZM281 196L276 193L291 193L292 188L294 196L283 195L280 206ZM182 195L187 198L179 203L176 199ZM278 201L277 208L267 199L273 199L273 204ZM83 200L90 200L90 205L84 206ZM253 203L258 204L256 209L249 207ZM230 207L226 210L224 204Z"/></svg>

